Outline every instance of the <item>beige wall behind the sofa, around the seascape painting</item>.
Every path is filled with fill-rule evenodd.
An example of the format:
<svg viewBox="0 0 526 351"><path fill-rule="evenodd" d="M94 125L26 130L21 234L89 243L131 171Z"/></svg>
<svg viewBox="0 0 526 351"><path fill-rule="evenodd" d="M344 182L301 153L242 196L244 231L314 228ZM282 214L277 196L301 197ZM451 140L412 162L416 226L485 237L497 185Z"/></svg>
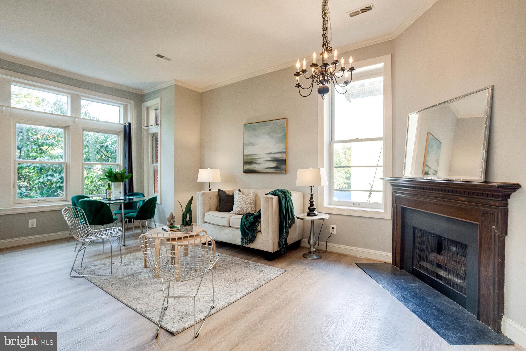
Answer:
<svg viewBox="0 0 526 351"><path fill-rule="evenodd" d="M392 42L385 42L351 54L360 61L392 52ZM316 91L307 98L299 96L295 71L281 69L201 94L201 166L221 171L222 182L213 183L213 188L297 190L305 193L306 210L308 188L296 186L296 170L318 165L319 96ZM287 174L243 174L243 124L283 117L288 118ZM331 243L391 252L389 219L330 215L325 224L322 240L329 235L329 224L334 224L338 230ZM308 226L304 230L307 238Z"/></svg>

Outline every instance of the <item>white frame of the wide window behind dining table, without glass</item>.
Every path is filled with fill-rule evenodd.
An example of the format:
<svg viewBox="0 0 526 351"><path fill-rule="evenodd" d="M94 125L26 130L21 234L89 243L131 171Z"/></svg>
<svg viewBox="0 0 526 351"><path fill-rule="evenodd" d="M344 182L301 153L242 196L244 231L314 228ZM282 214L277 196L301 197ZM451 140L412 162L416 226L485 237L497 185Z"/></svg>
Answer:
<svg viewBox="0 0 526 351"><path fill-rule="evenodd" d="M11 85L37 89L49 93L67 95L68 115L35 111L18 107L11 107ZM80 117L80 100L118 105L122 123L97 121ZM70 206L70 197L84 193L84 130L99 133L119 134L120 166L123 167L123 125L128 121L134 122L134 129L139 127L134 115L135 102L130 99L107 95L77 88L66 84L47 81L46 79L28 76L16 72L0 69L0 128L11 129L12 137L0 140L0 162L11 164L9 167L0 167L0 177L11 179L11 182L0 183L0 193L11 194L0 198L0 215L40 212L46 210L62 209ZM16 167L13 160L16 157L16 123L29 125L42 125L66 128L66 148L64 150L65 167L65 197L62 200L46 200L37 202L19 201L16 198ZM135 145L134 145L135 146ZM67 158L66 158L67 157ZM134 161L136 161L136 155ZM132 171L133 172L133 171ZM81 182L69 181L82 179ZM14 186L14 190L12 189ZM21 199L22 200L22 199ZM36 199L33 199L36 200Z"/></svg>

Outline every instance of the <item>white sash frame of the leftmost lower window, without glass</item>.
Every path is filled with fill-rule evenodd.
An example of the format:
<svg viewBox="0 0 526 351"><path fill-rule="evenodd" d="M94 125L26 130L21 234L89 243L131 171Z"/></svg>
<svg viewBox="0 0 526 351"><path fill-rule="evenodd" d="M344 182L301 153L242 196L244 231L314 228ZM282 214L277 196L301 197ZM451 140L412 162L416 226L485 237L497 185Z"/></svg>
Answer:
<svg viewBox="0 0 526 351"><path fill-rule="evenodd" d="M50 127L50 128L59 128L63 129L64 131L64 143L63 143L63 159L62 161L35 161L35 160L26 160L26 159L17 159L16 158L16 125L17 124L25 124L25 125L32 125L32 126L39 126L39 127ZM54 124L54 123L39 123L36 121L25 121L23 119L12 119L12 143L13 143L13 150L12 150L12 157L13 157L13 169L14 169L14 182L13 182L13 203L14 204L42 204L42 203L56 203L56 202L63 202L68 197L68 181L69 181L69 175L68 175L68 165L69 165L69 133L68 133L68 127L61 124ZM19 199L18 198L18 164L20 163L28 163L28 164L57 164L57 165L64 165L64 196L60 197L41 197L41 198L26 198L26 199Z"/></svg>

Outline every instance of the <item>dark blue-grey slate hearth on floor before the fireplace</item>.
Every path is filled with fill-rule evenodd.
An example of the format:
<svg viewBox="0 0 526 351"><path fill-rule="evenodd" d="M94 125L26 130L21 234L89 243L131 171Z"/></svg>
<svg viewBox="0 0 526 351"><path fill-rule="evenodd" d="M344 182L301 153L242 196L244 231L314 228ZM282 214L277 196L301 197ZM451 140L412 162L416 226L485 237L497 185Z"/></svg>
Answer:
<svg viewBox="0 0 526 351"><path fill-rule="evenodd" d="M389 263L357 263L392 296L440 335L449 345L510 345L453 300L417 277Z"/></svg>

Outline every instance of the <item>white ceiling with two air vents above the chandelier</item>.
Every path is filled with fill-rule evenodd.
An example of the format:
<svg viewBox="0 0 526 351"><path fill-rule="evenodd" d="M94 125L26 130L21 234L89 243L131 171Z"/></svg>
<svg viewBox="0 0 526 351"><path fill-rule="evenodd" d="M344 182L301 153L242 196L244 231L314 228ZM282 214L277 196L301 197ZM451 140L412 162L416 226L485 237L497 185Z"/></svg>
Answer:
<svg viewBox="0 0 526 351"><path fill-rule="evenodd" d="M346 14L371 1L373 11ZM435 1L330 0L332 47L392 38ZM321 46L319 0L0 0L0 8L0 52L133 90L173 79L206 89Z"/></svg>

